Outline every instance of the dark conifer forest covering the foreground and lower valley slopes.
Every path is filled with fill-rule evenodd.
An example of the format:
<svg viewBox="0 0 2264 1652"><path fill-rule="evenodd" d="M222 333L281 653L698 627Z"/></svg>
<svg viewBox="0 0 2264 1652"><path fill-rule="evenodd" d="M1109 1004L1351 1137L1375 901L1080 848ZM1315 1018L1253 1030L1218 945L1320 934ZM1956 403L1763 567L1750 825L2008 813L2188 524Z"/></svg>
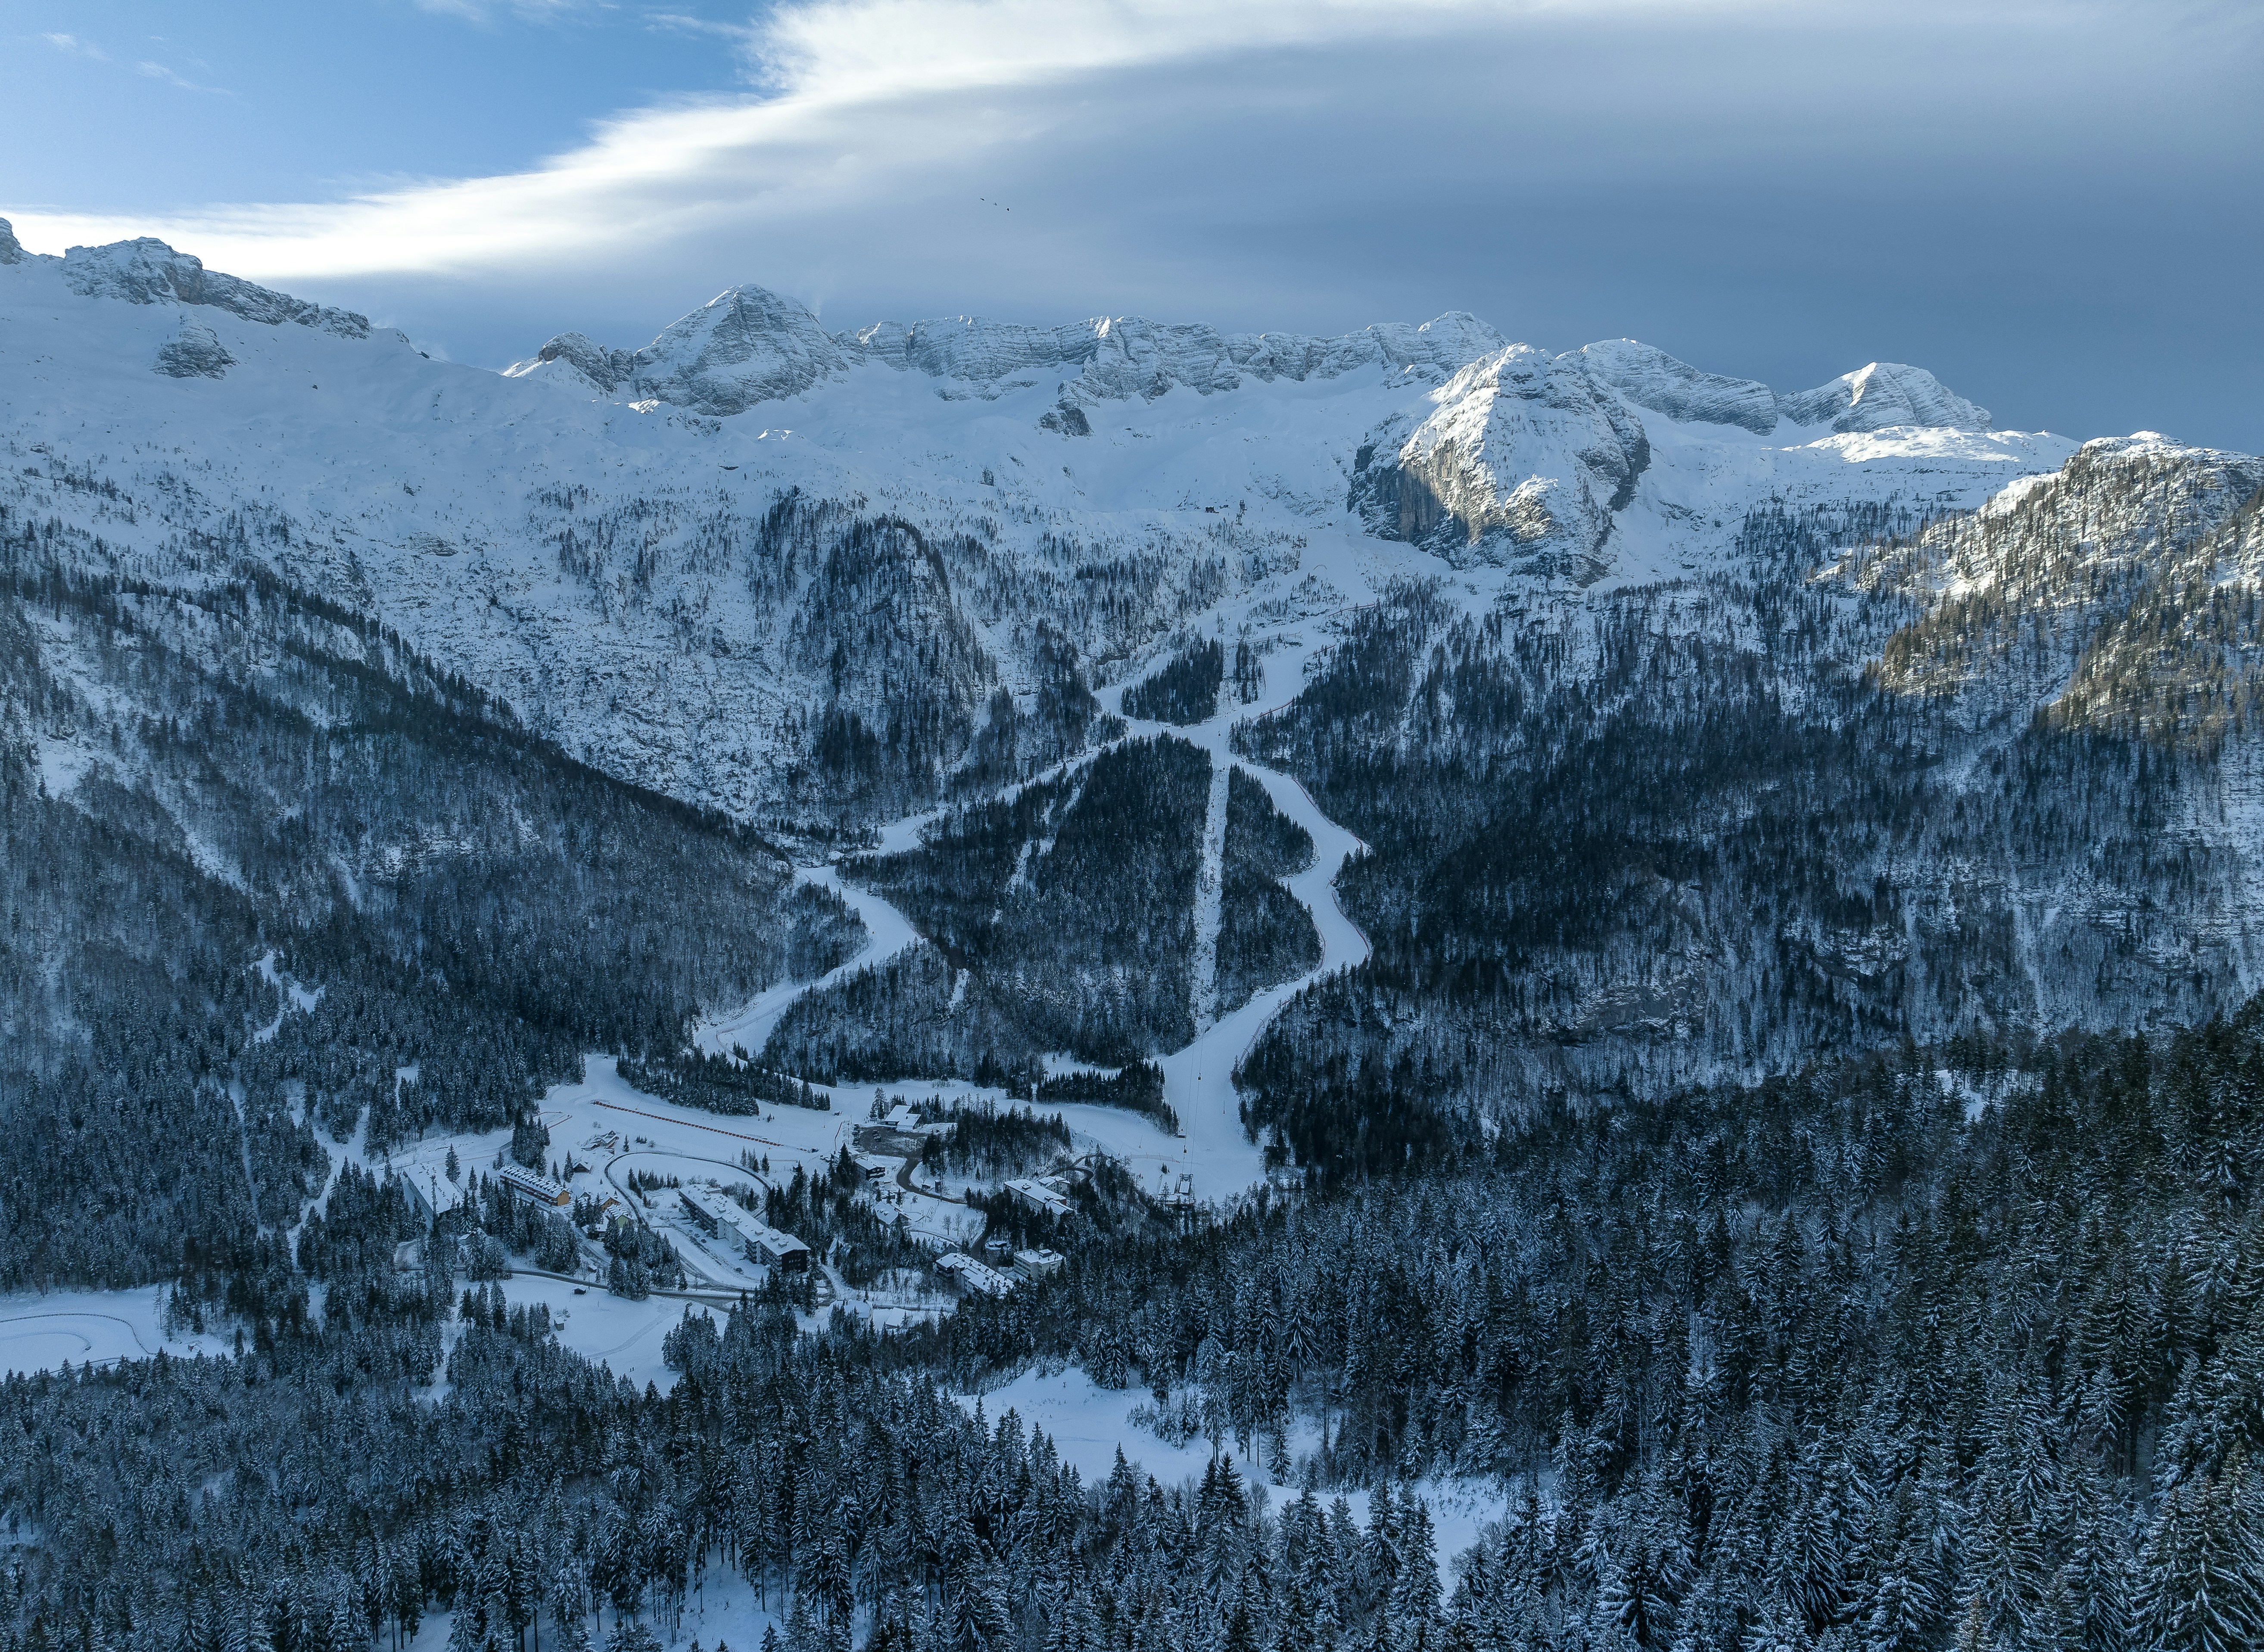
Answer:
<svg viewBox="0 0 2264 1652"><path fill-rule="evenodd" d="M349 1165L297 1220L331 1179L326 1141L521 1118L541 1163L528 1102L591 1046L720 1113L822 1102L788 1073L962 1073L1170 1127L1141 1057L1186 1036L1170 969L1193 921L1202 754L1116 745L949 812L915 853L854 862L926 937L835 989L869 1000L865 1021L817 993L761 1064L691 1057L681 1027L709 993L815 975L847 946L847 914L788 889L758 837L577 767L385 638L349 647L303 593L229 588L190 616L285 645L281 681L233 674L226 645L183 649L177 600L52 577L16 600L11 704L50 724L97 715L72 686L88 668L54 665L68 636L145 706L111 726L152 778L93 815L48 797L27 747L0 751L11 991L75 993L88 1027L9 1023L9 1279L163 1283L170 1319L233 1333L235 1353L5 1383L11 1652L358 1652L435 1614L451 1647L548 1634L625 1652L675 1636L727 1575L774 1604L788 1652L2119 1652L2264 1634L2264 1000L2153 1034L1967 1023L1897 1043L1863 1036L1877 1012L1859 993L1793 996L1764 1005L1775 1023L1721 1034L1847 1016L1780 1077L1472 1107L1501 1059L1487 1030L1530 1036L1544 1009L1521 996L1530 960L1657 910L1632 864L1696 889L1759 889L1766 871L1777 898L1836 898L1852 926L1909 896L1850 889L1829 837L1766 812L1684 840L1664 799L1583 790L1594 751L1551 747L1558 783L1506 803L1438 745L1388 772L1354 760L1345 731L1413 674L1417 699L1451 692L1463 740L1499 742L1497 765L1533 749L1528 690L1503 677L1515 654L1422 591L1247 735L1374 844L1345 887L1377 960L1300 998L1238 1075L1290 1186L1193 1224L1121 1177L1082 1186L1075 1220L985 1199L996 1231L1062 1249L1064 1272L890 1335L822 1317L808 1279L772 1279L686 1308L666 1396L496 1288L571 1263L564 1218L478 1172L430 1218ZM1413 636L1440 640L1417 654ZM1630 672L1657 647L1601 640ZM1693 704L1730 670L1689 665ZM1834 692L1861 708L1868 690ZM1768 772L1750 726L1775 704L1709 715L1682 733L1689 783ZM1913 751L1945 738L1927 715L1886 706L1847 738ZM1657 738L1628 706L1614 717L1607 747ZM2171 781L2149 776L2178 763L2112 735L2022 740L2031 774L2137 774L2096 806L2110 819L2158 806ZM233 756L197 756L211 749ZM1784 765L1841 788L1895 774ZM222 774L292 799L285 831L229 842L235 880L199 864L197 833L226 819ZM1315 955L1281 885L1313 844L1247 774L1225 792L1232 1003ZM1832 797L1807 799L1829 803L1816 819L1852 819ZM482 842L498 799L516 824ZM435 826L451 819L462 837ZM1573 819L1621 824L1576 835ZM663 858L614 849L657 835ZM1424 898L1424 876L1463 898ZM1628 905L1576 907L1594 887ZM740 917L657 921L686 901ZM149 903L190 921L140 928ZM27 973L63 937L95 937L84 966ZM697 950L715 937L734 950ZM1127 991L1134 960L1148 975ZM976 964L1053 987L985 996L967 987ZM575 984L598 975L607 991ZM1417 1036L1408 1003L1435 1012ZM883 1036L858 1043L858 1025ZM1062 1046L1123 1066L1041 1077L1037 1052ZM974 1113L964 1132L931 1168L1028 1172L1069 1147L1037 1113ZM917 1270L858 1188L844 1154L758 1215L851 1285ZM134 1211L149 1218L113 1215ZM403 1274L410 1240L426 1260ZM604 1247L620 1297L684 1285L641 1222ZM1157 1430L1209 1442L1211 1466L1184 1487L1132 1466L1089 1485L1041 1432L949 1399L1032 1365L1146 1394ZM1508 1496L1467 1555L1440 1555L1431 1530L1424 1487L1449 1480Z"/></svg>

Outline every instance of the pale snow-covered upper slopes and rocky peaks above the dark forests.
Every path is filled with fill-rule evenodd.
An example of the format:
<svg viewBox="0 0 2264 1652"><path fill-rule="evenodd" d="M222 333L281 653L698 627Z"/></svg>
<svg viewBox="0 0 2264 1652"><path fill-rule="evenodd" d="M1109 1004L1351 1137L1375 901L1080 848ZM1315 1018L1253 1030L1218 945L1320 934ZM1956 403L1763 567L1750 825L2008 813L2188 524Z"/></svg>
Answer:
<svg viewBox="0 0 2264 1652"><path fill-rule="evenodd" d="M1721 566L1755 500L1967 509L2072 450L1915 369L1780 398L1467 315L826 333L740 285L498 376L152 240L0 258L11 509L152 577L265 559L593 763L763 817L928 801L1001 690L1082 692L1220 604L1610 591Z"/></svg>

